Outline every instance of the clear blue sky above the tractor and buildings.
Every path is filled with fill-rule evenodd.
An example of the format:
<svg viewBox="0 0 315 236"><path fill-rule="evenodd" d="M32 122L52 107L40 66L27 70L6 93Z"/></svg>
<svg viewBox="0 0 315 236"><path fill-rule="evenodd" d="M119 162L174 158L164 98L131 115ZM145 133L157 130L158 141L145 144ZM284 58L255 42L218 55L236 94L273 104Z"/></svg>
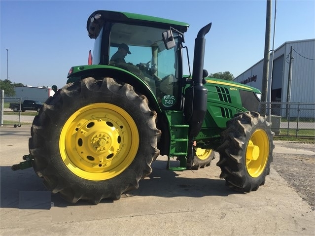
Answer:
<svg viewBox="0 0 315 236"><path fill-rule="evenodd" d="M272 47L275 0L272 0ZM86 65L94 40L86 21L95 10L152 15L190 24L185 35L193 65L198 31L206 35L204 68L236 77L263 58L266 0L0 0L1 79L58 88L71 66ZM277 0L275 49L286 41L315 38L315 0ZM8 64L7 64L7 50ZM188 70L185 72L187 73Z"/></svg>

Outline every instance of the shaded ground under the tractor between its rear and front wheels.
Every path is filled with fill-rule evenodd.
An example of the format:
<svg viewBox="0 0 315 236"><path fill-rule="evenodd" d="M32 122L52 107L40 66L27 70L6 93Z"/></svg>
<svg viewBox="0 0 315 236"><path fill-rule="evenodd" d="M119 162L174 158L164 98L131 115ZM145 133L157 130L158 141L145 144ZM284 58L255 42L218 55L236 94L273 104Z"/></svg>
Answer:
<svg viewBox="0 0 315 236"><path fill-rule="evenodd" d="M178 162L171 161L172 166ZM166 169L166 161L157 160L152 163L152 173L140 180L139 188L125 194L131 196L156 196L163 198L190 197L202 198L205 196L229 196L237 193L225 186L225 180L213 174L218 168L215 163L210 167L199 170L170 171ZM214 167L215 166L215 167ZM217 170L215 170L217 172ZM122 195L124 197L124 195Z"/></svg>

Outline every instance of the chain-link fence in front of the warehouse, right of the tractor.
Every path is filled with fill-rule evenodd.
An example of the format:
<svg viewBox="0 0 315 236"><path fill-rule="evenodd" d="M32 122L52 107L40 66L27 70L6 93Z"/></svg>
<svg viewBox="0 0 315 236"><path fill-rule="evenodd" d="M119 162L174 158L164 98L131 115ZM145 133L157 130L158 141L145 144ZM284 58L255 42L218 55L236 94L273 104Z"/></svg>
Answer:
<svg viewBox="0 0 315 236"><path fill-rule="evenodd" d="M315 102L261 102L275 135L315 137Z"/></svg>

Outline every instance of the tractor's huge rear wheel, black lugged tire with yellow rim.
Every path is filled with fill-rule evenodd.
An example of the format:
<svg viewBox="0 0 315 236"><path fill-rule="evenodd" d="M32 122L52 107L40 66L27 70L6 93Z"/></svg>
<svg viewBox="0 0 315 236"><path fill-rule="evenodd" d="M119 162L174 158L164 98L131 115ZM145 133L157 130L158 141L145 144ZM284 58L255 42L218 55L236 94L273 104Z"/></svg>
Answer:
<svg viewBox="0 0 315 236"><path fill-rule="evenodd" d="M29 140L44 185L69 202L118 200L152 171L157 114L129 84L112 78L66 85L35 116Z"/></svg>

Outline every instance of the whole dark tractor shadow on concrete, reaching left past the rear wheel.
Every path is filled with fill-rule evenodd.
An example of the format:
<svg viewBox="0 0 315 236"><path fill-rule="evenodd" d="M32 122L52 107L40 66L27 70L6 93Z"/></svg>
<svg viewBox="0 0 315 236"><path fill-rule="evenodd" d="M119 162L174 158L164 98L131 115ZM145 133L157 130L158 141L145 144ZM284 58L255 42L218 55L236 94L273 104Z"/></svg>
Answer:
<svg viewBox="0 0 315 236"><path fill-rule="evenodd" d="M178 164L171 161L171 166ZM215 164L211 164L211 166ZM121 197L156 196L164 198L204 196L228 196L240 194L225 186L225 180L212 177L211 169L169 171L166 161L152 163L152 173L140 180L137 190ZM200 172L198 172L200 171ZM207 174L209 173L209 174ZM113 201L102 200L100 203ZM50 209L51 206L67 207L70 205L91 205L87 201L71 204L58 194L47 191L33 168L12 171L10 166L0 167L0 208Z"/></svg>

